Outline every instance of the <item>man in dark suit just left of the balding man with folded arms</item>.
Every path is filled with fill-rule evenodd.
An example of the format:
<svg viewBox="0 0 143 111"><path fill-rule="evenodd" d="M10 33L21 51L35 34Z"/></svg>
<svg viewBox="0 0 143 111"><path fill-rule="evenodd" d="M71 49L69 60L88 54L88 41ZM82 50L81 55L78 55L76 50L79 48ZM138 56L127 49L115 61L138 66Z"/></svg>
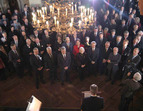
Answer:
<svg viewBox="0 0 143 111"><path fill-rule="evenodd" d="M108 60L108 57L109 57L109 54L111 53L111 48L110 48L110 42L107 41L105 43L105 47L103 47L100 52L99 52L99 57L100 57L100 65L99 67L99 73L100 74L106 74L107 72L107 60Z"/></svg>

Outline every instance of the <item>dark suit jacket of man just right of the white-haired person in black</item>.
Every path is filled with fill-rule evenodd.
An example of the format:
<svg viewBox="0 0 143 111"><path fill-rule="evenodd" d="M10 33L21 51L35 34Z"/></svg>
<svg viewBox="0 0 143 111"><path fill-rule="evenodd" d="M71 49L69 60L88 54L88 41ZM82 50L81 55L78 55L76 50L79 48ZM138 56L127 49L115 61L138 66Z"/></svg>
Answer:
<svg viewBox="0 0 143 111"><path fill-rule="evenodd" d="M92 48L90 47L88 49L87 55L88 55L89 62L94 61L96 63L99 57L99 49L95 48L95 51L92 51Z"/></svg>

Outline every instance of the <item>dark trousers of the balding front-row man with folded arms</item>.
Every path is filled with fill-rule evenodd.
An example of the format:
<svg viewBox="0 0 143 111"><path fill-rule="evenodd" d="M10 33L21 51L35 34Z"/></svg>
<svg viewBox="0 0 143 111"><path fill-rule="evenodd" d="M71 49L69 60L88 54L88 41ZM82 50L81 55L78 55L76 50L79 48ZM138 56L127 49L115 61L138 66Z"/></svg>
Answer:
<svg viewBox="0 0 143 111"><path fill-rule="evenodd" d="M118 65L108 64L108 79L115 81L116 73L118 71Z"/></svg>

